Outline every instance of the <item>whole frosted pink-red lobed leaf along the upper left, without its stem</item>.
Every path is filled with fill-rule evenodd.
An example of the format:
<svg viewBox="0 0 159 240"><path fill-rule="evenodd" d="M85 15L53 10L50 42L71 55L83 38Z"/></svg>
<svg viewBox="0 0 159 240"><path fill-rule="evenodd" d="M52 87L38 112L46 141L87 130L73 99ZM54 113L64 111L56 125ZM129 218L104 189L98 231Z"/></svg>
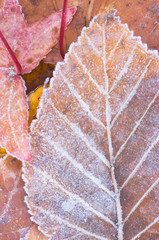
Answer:
<svg viewBox="0 0 159 240"><path fill-rule="evenodd" d="M17 0L1 1L0 31L22 66L30 72L50 51L59 38L62 12L28 24ZM67 24L76 8L68 9ZM11 56L0 41L0 145L21 160L30 160L28 106L24 82L16 76Z"/></svg>

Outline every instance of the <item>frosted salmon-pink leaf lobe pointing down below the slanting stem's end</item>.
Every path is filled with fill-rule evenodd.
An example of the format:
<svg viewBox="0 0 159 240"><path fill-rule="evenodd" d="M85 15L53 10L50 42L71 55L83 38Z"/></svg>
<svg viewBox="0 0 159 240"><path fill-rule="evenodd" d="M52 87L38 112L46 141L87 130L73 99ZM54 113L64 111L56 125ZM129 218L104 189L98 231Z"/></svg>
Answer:
<svg viewBox="0 0 159 240"><path fill-rule="evenodd" d="M0 142L4 148L19 159L30 160L28 136L28 106L25 87L20 76L8 77L0 71ZM10 80L10 81L9 81Z"/></svg>

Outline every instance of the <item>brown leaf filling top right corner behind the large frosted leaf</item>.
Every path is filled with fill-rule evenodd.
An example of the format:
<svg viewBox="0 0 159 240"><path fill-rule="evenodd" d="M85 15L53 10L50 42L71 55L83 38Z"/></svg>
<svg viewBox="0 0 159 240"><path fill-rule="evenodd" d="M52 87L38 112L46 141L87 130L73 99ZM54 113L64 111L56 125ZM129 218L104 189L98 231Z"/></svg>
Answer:
<svg viewBox="0 0 159 240"><path fill-rule="evenodd" d="M98 2L98 1L97 1ZM159 50L159 1L158 0L107 0L117 9L123 23L149 48Z"/></svg>

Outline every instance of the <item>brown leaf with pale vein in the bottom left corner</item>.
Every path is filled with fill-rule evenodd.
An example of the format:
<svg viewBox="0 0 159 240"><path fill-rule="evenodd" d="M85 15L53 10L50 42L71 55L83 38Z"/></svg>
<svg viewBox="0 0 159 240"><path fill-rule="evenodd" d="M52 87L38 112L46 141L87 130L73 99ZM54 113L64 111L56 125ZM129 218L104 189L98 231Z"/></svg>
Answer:
<svg viewBox="0 0 159 240"><path fill-rule="evenodd" d="M19 240L32 222L24 202L21 162L6 155L0 159L0 239Z"/></svg>

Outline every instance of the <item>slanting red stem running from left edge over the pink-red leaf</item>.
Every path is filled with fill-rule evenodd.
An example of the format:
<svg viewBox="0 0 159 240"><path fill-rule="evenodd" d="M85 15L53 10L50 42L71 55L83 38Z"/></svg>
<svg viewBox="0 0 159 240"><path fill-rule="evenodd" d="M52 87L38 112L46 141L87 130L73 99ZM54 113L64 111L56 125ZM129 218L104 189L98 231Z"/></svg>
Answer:
<svg viewBox="0 0 159 240"><path fill-rule="evenodd" d="M20 74L21 71L22 71L22 67L21 67L20 63L18 62L14 52L10 48L7 40L5 39L5 37L3 36L1 31L0 31L0 38L1 38L2 42L4 43L5 47L7 48L8 52L9 52L9 54L10 54L10 56L11 56L13 62L14 62L15 68L17 70L17 74Z"/></svg>

